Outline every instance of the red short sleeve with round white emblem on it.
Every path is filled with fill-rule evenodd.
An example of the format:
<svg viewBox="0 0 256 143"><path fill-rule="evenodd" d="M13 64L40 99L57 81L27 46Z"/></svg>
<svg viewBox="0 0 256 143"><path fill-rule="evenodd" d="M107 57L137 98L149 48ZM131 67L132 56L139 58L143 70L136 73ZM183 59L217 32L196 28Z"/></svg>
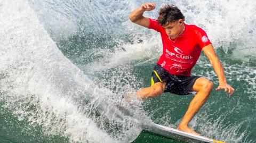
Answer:
<svg viewBox="0 0 256 143"><path fill-rule="evenodd" d="M197 41L198 41L198 45L203 48L209 44L212 44L211 41L209 40L206 32L202 29L197 27L197 29L195 30L196 32L196 37L197 37Z"/></svg>

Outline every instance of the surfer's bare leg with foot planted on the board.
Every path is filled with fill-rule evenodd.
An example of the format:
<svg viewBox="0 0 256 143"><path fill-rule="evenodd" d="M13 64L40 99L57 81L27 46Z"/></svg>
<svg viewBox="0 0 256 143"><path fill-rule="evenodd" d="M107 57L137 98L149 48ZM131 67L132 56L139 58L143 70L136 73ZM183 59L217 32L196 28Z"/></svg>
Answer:
<svg viewBox="0 0 256 143"><path fill-rule="evenodd" d="M193 91L196 91L197 94L191 100L188 110L183 116L178 129L185 132L190 132L193 134L197 134L194 130L188 127L188 123L196 114L196 112L204 105L205 101L209 97L211 90L213 88L213 82L206 78L198 78L193 86Z"/></svg>

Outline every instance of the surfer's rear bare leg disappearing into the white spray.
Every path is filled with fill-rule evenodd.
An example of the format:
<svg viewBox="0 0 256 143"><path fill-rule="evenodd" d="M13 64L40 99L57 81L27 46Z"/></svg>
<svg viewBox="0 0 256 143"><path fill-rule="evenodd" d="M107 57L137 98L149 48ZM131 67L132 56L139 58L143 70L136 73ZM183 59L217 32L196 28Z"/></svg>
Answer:
<svg viewBox="0 0 256 143"><path fill-rule="evenodd" d="M156 82L154 85L146 88L142 88L136 92L136 95L139 99L146 99L157 97L164 92L165 83L164 82Z"/></svg>

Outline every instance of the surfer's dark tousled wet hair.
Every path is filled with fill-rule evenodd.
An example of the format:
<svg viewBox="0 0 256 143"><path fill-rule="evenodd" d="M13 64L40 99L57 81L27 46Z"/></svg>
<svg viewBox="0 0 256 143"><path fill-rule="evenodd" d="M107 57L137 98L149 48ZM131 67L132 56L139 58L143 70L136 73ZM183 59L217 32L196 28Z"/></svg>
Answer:
<svg viewBox="0 0 256 143"><path fill-rule="evenodd" d="M175 5L165 5L159 10L159 16L157 18L157 23L164 26L166 23L175 22L179 19L185 21L185 16L181 13Z"/></svg>

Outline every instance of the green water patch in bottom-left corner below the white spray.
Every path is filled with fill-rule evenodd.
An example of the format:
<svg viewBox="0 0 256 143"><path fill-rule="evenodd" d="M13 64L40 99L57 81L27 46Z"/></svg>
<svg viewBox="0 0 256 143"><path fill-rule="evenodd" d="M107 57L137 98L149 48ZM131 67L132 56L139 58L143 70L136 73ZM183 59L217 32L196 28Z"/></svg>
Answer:
<svg viewBox="0 0 256 143"><path fill-rule="evenodd" d="M0 142L19 143L19 142L69 142L67 137L61 134L46 134L41 125L31 125L25 119L21 120L12 114L7 108L0 104Z"/></svg>

